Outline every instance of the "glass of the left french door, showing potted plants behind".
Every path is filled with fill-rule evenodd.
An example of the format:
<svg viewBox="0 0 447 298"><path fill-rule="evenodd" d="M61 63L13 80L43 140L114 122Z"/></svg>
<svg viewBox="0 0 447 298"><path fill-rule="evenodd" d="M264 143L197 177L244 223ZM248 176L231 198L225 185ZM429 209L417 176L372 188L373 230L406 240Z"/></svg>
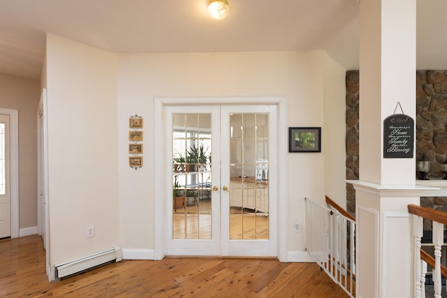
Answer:
<svg viewBox="0 0 447 298"><path fill-rule="evenodd" d="M173 114L173 239L211 239L211 114Z"/></svg>

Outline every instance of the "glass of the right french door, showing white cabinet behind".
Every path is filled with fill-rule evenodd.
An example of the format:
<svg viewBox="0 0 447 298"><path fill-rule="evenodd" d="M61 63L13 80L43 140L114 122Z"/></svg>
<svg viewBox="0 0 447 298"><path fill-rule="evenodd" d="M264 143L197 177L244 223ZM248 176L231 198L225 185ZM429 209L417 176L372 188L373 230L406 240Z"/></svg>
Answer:
<svg viewBox="0 0 447 298"><path fill-rule="evenodd" d="M230 239L269 239L268 114L230 114Z"/></svg>

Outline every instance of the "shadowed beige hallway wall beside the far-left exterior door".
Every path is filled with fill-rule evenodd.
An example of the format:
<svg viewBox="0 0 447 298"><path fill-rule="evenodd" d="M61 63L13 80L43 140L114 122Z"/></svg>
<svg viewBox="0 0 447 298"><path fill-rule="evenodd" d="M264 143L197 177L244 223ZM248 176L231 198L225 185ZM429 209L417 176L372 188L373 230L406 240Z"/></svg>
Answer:
<svg viewBox="0 0 447 298"><path fill-rule="evenodd" d="M0 74L0 107L19 110L19 228L37 225L38 80Z"/></svg>

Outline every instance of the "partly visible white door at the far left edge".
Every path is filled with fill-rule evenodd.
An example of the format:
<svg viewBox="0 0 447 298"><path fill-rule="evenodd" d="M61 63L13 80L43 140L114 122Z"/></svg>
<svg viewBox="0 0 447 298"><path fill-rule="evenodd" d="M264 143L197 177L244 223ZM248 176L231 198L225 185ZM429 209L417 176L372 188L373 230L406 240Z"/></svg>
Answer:
<svg viewBox="0 0 447 298"><path fill-rule="evenodd" d="M0 238L11 236L10 117L0 114Z"/></svg>

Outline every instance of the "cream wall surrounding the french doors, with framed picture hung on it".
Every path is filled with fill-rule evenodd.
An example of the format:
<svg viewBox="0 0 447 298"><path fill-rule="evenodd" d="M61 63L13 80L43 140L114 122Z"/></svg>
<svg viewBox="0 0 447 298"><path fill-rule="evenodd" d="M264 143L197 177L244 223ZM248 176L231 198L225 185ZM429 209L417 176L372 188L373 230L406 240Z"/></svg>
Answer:
<svg viewBox="0 0 447 298"><path fill-rule="evenodd" d="M156 172L151 165L156 156L151 144L156 96L286 96L288 126L321 126L323 135L325 98L330 105L342 105L342 110L345 105L344 70L322 51L119 54L118 73L119 156L128 156L129 116L145 118L145 166L135 171L126 158L119 159L119 237L124 248L154 249ZM332 77L342 87L325 86ZM341 117L344 124L344 112ZM344 137L332 142L343 148L339 158L344 165ZM305 225L304 198L324 201L324 155L325 149L318 154L288 154L287 165L279 165L287 167L288 251L305 250L305 233L293 232L295 219ZM339 187L337 193L343 193L344 176L336 179L331 188Z"/></svg>

